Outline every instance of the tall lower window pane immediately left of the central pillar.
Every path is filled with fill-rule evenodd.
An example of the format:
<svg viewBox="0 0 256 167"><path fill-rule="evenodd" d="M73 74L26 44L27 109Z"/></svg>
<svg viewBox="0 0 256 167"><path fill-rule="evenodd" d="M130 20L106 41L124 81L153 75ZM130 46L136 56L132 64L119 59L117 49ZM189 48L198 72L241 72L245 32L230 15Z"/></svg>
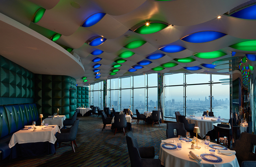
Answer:
<svg viewBox="0 0 256 167"><path fill-rule="evenodd" d="M158 88L148 88L148 109L147 111L158 110L158 103L157 103L157 89ZM156 107L156 109L154 108Z"/></svg>

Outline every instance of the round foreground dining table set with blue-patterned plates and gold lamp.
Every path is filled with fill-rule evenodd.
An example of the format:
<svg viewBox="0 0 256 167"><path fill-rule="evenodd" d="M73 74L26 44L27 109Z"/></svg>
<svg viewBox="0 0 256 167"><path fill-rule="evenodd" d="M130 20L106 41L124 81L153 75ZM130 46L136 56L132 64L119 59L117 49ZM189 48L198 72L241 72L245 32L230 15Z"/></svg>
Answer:
<svg viewBox="0 0 256 167"><path fill-rule="evenodd" d="M178 138L171 139L175 140L174 143L161 143L160 146L159 159L161 160L161 165L165 167L239 167L235 154L222 154L215 151L216 157L210 154L209 158L209 149L205 149L202 143L197 143L201 149L191 149L192 143L184 141L184 143L182 142L181 150L178 150L175 148L179 143ZM228 150L226 147L212 142L209 143L209 146ZM201 157L201 161L195 160L190 151ZM204 154L204 151L208 154Z"/></svg>

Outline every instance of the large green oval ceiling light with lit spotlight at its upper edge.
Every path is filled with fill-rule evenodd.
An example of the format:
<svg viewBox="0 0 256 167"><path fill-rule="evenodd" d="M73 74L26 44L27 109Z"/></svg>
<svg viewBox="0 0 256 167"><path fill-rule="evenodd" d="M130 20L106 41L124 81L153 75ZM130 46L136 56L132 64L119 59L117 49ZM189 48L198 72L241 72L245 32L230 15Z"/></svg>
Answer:
<svg viewBox="0 0 256 167"><path fill-rule="evenodd" d="M134 32L139 34L152 34L166 28L167 26L168 25L162 23L145 23L144 26L137 28Z"/></svg>

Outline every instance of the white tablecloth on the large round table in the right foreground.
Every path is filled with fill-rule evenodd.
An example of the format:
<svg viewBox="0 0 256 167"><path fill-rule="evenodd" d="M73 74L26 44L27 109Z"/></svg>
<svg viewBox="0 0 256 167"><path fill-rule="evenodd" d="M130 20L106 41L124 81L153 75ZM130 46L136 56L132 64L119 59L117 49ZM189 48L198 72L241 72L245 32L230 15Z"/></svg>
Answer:
<svg viewBox="0 0 256 167"><path fill-rule="evenodd" d="M177 145L178 138L173 138L176 142L172 143ZM162 145L163 143L161 143ZM221 157L222 161L219 163L213 163L210 161L202 160L198 162L189 158L189 151L193 151L195 154L200 156L204 152L204 146L202 143L197 143L201 149L191 149L192 143L182 143L182 150L168 150L164 149L160 146L160 154L159 159L161 160L161 164L165 167L239 167L236 155L224 155L215 153L216 156ZM210 144L216 144L211 143ZM196 145L196 144L195 144Z"/></svg>

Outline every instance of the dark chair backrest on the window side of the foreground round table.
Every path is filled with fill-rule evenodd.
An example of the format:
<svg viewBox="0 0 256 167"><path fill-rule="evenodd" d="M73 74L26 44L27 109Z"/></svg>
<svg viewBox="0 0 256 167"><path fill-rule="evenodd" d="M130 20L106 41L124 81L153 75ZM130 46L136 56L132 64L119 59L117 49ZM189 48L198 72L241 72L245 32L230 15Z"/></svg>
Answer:
<svg viewBox="0 0 256 167"><path fill-rule="evenodd" d="M176 135L174 135L174 129L176 129ZM186 136L187 130L185 130L183 123L167 123L166 128L166 137L170 138L178 138L179 135L183 137Z"/></svg>

